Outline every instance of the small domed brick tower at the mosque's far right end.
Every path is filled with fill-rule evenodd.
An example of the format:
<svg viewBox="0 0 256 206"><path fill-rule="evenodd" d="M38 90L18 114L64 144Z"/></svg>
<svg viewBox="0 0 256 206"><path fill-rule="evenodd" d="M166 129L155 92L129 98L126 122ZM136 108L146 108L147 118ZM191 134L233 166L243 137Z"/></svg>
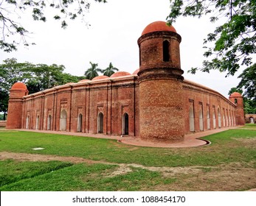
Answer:
<svg viewBox="0 0 256 206"><path fill-rule="evenodd" d="M243 112L243 96L241 93L234 92L230 94L229 100L235 104L235 121L237 125L246 123Z"/></svg>

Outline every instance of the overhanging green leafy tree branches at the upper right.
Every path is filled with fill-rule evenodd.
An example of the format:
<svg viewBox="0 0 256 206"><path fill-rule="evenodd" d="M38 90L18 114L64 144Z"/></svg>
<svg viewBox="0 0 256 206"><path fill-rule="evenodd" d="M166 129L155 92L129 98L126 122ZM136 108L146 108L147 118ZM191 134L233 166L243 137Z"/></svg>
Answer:
<svg viewBox="0 0 256 206"><path fill-rule="evenodd" d="M170 0L171 11L167 16L168 24L173 24L179 16L201 18L210 16L210 22L226 18L226 23L217 26L213 33L207 35L204 46L207 51L201 68L191 68L190 72L217 69L234 75L241 65L253 63L252 55L256 53L256 1L255 0Z"/></svg>

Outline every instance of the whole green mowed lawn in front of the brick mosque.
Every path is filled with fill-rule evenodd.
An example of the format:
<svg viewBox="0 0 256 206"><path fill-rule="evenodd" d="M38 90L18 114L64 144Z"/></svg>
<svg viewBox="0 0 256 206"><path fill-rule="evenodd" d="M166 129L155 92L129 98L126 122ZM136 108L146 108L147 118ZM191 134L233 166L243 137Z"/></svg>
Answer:
<svg viewBox="0 0 256 206"><path fill-rule="evenodd" d="M248 126L246 127L248 128ZM1 152L83 157L89 160L99 160L100 163L1 160L0 190L157 191L172 189L212 191L256 188L255 179L248 180L249 183L245 184L247 177L244 177L243 185L239 187L233 186L230 182L230 188L223 188L224 184L220 182L222 181L221 170L224 170L224 166L230 166L226 170L232 170L231 165L235 164L241 173L245 172L243 168L246 171L248 169L252 173L249 174L250 176L256 171L256 127L250 125L249 128L230 129L204 137L211 142L207 146L179 149L129 146L107 139L1 130ZM42 147L44 150L32 150L36 147ZM131 164L128 165L130 170L113 175L114 171L118 171L120 168L120 164ZM133 164L142 167L134 167ZM163 173L161 169L152 171L150 167L196 167L200 168L200 172L193 174L193 170L188 173L172 174L169 171L170 174L167 174ZM218 171L221 171L220 177L218 175L215 177ZM210 182L204 180L204 175L212 175ZM197 184L205 185L205 188ZM210 188L209 185L211 185Z"/></svg>

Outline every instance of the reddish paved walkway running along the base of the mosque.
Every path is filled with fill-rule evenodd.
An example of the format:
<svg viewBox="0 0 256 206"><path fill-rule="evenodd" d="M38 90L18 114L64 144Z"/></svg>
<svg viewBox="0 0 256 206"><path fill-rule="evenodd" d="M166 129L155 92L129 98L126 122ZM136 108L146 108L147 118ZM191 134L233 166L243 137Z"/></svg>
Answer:
<svg viewBox="0 0 256 206"><path fill-rule="evenodd" d="M82 137L91 137L91 138L106 138L106 139L114 139L119 141L120 143L126 143L134 146L150 146L150 147L165 147L165 148L179 148L179 147L192 147L192 146L203 146L208 141L204 141L203 137L207 135L212 135L218 132L223 132L228 129L235 129L238 127L225 127L221 129L212 129L207 130L205 132L196 132L193 134L185 135L184 141L180 143L162 143L162 142L151 142L151 141L143 141L139 137L122 137L122 136L114 136L114 135L102 135L102 134L89 134L89 133L81 133L81 132L60 132L60 131L49 131L49 130L37 130L37 129L17 129L19 131L27 131L27 132L41 132L41 133L50 133L50 134L60 134L60 135L74 135L74 136L82 136Z"/></svg>

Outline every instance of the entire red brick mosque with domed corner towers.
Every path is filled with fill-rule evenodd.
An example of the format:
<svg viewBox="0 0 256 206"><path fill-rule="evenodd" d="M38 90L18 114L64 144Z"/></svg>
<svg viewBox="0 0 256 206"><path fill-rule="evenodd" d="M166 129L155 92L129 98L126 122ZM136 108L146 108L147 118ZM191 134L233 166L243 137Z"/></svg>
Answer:
<svg viewBox="0 0 256 206"><path fill-rule="evenodd" d="M7 128L129 135L179 142L190 132L243 125L243 97L226 99L182 77L173 26L156 21L138 40L139 69L117 71L28 94L16 82L10 90Z"/></svg>

